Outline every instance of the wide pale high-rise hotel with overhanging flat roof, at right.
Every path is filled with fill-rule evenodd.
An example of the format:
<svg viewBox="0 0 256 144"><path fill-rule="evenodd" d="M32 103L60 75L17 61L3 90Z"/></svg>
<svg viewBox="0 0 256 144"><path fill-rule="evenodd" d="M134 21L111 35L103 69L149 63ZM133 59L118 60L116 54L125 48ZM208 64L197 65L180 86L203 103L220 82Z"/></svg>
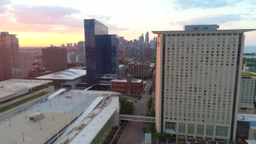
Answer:
<svg viewBox="0 0 256 144"><path fill-rule="evenodd" d="M243 33L256 29L218 27L153 31L157 132L235 141Z"/></svg>

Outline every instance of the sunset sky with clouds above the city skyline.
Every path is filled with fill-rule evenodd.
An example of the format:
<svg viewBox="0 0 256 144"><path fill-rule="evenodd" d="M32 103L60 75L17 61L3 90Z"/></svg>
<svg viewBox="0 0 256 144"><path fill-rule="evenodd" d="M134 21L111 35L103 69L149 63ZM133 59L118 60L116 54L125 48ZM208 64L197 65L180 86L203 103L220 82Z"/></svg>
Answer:
<svg viewBox="0 0 256 144"><path fill-rule="evenodd" d="M16 34L20 47L84 40L83 19L126 40L188 24L256 29L256 0L0 0L0 31ZM256 31L245 33L245 45L256 45Z"/></svg>

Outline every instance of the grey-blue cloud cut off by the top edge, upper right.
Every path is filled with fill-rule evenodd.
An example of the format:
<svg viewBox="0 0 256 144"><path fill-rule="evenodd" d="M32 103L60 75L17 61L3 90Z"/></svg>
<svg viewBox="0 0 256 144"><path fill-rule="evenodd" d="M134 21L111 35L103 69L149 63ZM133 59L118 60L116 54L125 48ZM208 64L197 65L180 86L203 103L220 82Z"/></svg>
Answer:
<svg viewBox="0 0 256 144"><path fill-rule="evenodd" d="M180 8L218 8L240 2L241 0L174 0Z"/></svg>

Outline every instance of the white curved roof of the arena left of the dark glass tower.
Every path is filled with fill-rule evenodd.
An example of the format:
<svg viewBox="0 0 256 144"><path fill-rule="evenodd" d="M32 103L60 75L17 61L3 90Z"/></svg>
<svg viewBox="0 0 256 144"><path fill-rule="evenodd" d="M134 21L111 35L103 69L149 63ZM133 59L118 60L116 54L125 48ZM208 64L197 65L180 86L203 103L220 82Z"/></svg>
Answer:
<svg viewBox="0 0 256 144"><path fill-rule="evenodd" d="M37 79L43 80L74 80L78 77L86 75L86 70L82 69L68 69L61 72L56 72L49 75L44 75L41 77L36 77Z"/></svg>

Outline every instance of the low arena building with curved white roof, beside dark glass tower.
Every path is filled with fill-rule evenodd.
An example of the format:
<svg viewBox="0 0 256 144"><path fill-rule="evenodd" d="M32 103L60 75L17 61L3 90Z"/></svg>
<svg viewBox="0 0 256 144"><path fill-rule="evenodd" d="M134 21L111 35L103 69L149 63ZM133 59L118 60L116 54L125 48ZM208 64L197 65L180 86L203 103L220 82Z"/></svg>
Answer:
<svg viewBox="0 0 256 144"><path fill-rule="evenodd" d="M77 89L77 83L86 82L86 70L68 69L50 75L37 77L40 80L52 80L55 89L67 88L68 90Z"/></svg>

